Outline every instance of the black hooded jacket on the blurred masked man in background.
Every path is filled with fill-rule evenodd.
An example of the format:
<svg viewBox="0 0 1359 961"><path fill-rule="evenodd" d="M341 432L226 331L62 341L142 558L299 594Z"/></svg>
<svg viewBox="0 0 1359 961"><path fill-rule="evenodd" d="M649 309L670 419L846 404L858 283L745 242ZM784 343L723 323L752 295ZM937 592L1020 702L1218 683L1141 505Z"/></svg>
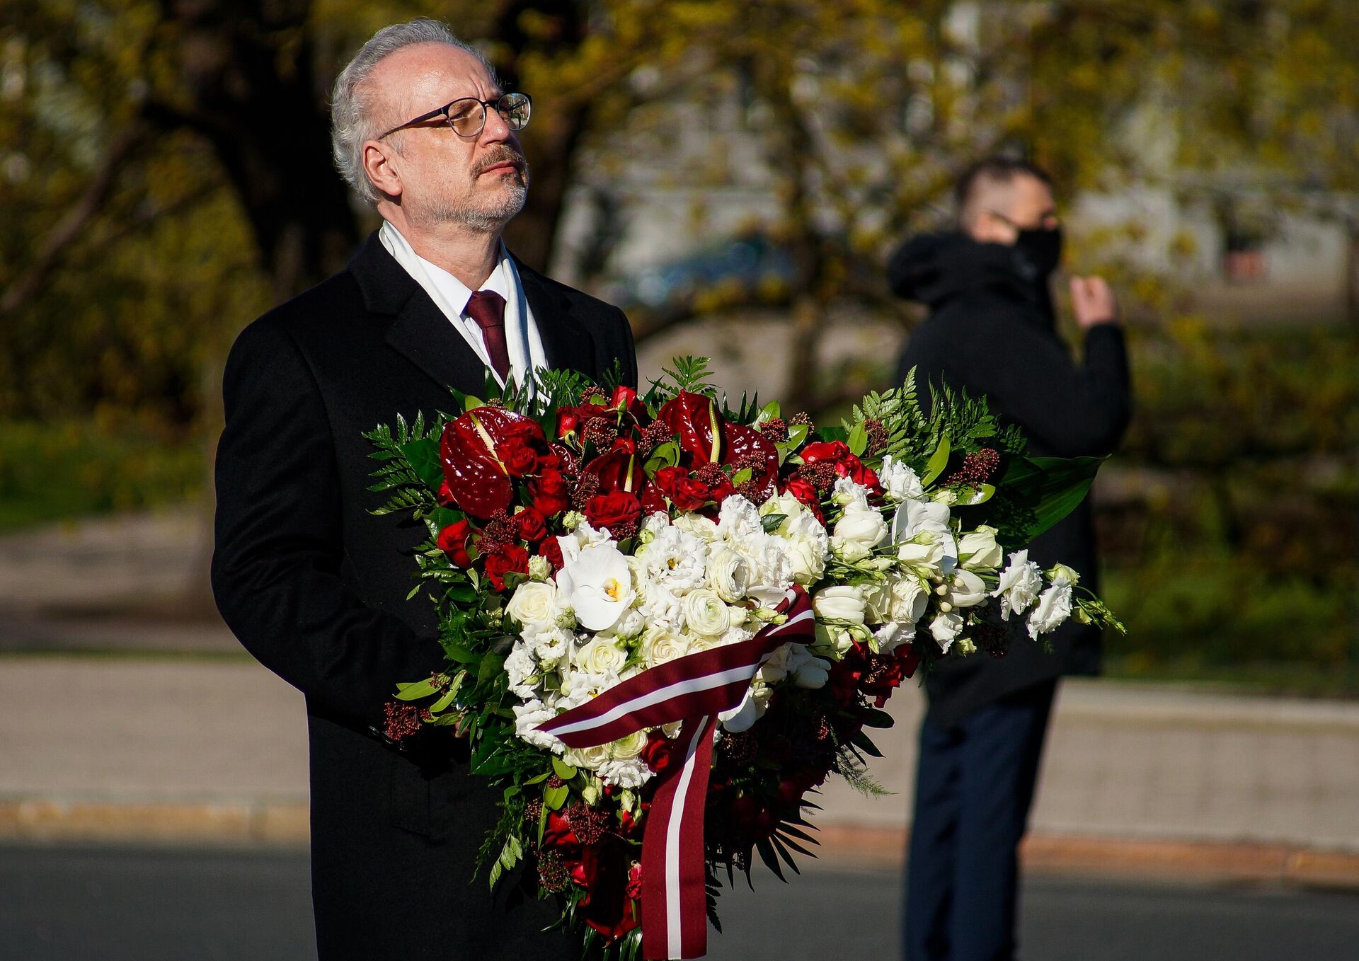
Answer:
<svg viewBox="0 0 1359 961"><path fill-rule="evenodd" d="M1123 332L1091 328L1084 364L1075 364L1056 333L1046 279L1034 276L1019 250L957 234L916 237L893 254L887 279L896 294L930 307L901 355L898 382L915 367L921 386L943 379L987 394L992 410L1025 431L1033 455L1101 455L1118 444L1131 415ZM1042 567L1070 564L1095 589L1089 500L1038 537L1029 556ZM1060 674L1099 671L1097 629L1072 623L1051 637L1055 654L1015 643L1002 659L980 655L934 670L925 688L936 720L954 723Z"/></svg>

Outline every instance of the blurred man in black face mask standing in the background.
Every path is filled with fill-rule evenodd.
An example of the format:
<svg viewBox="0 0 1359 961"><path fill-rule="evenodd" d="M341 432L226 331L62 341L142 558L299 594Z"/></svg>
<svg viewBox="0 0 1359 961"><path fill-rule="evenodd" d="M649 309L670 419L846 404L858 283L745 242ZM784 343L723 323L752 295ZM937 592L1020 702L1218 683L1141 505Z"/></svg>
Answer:
<svg viewBox="0 0 1359 961"><path fill-rule="evenodd" d="M893 291L930 315L906 343L897 382L985 394L1034 457L1109 454L1131 415L1117 302L1099 277L1072 277L1083 363L1059 337L1049 279L1061 261L1052 181L1022 160L976 163L955 189L958 231L908 239ZM1040 567L1070 564L1095 587L1089 499L1038 537ZM940 663L925 678L906 869L908 961L1003 961L1015 954L1018 845L1033 801L1048 715L1063 674L1099 671L1099 633L1068 623L1055 651L1011 644L1003 658Z"/></svg>

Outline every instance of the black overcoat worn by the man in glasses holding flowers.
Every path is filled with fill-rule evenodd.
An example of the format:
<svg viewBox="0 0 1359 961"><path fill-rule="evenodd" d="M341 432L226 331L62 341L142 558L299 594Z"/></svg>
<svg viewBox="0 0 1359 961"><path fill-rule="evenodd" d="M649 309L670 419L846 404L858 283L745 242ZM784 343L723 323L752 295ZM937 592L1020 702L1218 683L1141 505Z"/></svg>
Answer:
<svg viewBox="0 0 1359 961"><path fill-rule="evenodd" d="M519 265L548 363L591 377L622 364L617 307ZM349 266L236 338L223 379L212 586L223 618L306 695L317 942L337 958L554 958L576 949L550 903L492 896L473 862L496 797L436 729L401 754L370 733L397 681L443 663L434 606L406 601L424 531L374 517L370 444L398 413L453 406L485 368L372 234ZM249 710L247 705L242 708Z"/></svg>

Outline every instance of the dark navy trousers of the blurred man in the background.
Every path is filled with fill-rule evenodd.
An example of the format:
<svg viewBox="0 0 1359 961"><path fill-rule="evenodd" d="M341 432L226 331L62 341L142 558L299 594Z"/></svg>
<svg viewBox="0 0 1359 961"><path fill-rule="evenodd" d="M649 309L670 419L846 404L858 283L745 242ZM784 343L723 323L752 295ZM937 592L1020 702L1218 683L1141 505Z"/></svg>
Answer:
<svg viewBox="0 0 1359 961"><path fill-rule="evenodd" d="M920 726L906 866L906 961L1008 961L1019 839L1056 681Z"/></svg>

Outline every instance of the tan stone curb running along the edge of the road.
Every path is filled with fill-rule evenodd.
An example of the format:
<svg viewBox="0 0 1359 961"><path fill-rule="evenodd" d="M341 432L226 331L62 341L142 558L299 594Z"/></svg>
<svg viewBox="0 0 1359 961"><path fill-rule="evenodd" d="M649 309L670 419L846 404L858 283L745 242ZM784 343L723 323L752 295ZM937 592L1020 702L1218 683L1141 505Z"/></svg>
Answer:
<svg viewBox="0 0 1359 961"><path fill-rule="evenodd" d="M900 870L905 860L904 828L826 824L815 836L828 866ZM308 840L304 801L0 801L0 841L306 847ZM1359 852L1295 844L1030 835L1021 858L1036 874L1359 890Z"/></svg>

